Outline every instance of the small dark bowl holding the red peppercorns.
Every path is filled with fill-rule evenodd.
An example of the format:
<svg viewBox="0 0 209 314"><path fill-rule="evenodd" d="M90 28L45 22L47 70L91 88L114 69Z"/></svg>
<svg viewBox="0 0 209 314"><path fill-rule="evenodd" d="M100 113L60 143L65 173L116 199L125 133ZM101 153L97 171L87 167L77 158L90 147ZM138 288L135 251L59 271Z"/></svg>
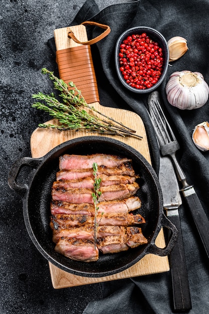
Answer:
<svg viewBox="0 0 209 314"><path fill-rule="evenodd" d="M154 42L157 42L159 47L162 48L162 53L163 53L163 67L162 67L162 72L159 80L157 83L155 83L152 87L146 88L146 89L137 89L135 87L130 86L128 83L123 78L123 75L120 71L120 63L119 63L119 52L120 52L120 45L123 43L123 41L128 37L132 35L141 35L142 33L146 33L147 36L150 37L151 40ZM123 32L120 37L117 40L116 47L115 47L115 65L116 65L116 71L119 77L120 82L122 83L123 86L125 86L128 90L138 93L138 94L144 94L144 93L149 93L152 92L153 90L157 89L158 86L162 83L162 81L165 78L167 68L168 68L168 61L169 61L169 50L167 46L167 41L163 37L161 33L159 33L157 30L154 30L150 27L145 27L145 26L137 26L130 28Z"/></svg>

